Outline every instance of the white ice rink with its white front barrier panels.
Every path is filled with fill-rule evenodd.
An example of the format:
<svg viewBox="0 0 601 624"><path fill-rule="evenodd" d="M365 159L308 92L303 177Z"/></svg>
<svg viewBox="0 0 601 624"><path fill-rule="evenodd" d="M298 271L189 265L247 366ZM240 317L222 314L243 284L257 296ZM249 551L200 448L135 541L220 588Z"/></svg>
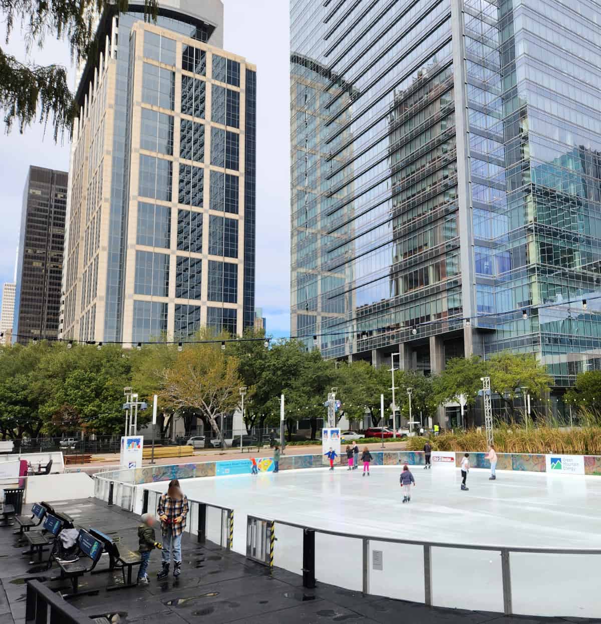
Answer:
<svg viewBox="0 0 601 624"><path fill-rule="evenodd" d="M416 487L403 504L400 467L284 470L186 479L188 498L234 509L234 550L246 552L246 517L292 522L370 538L381 550L369 593L424 602L423 547L377 537L499 547L601 548L601 479L534 472L471 470L468 492L458 469L412 469ZM149 484L164 491L166 483ZM147 485L146 487L149 487ZM217 513L213 510L213 518ZM211 514L208 515L211 520ZM210 523L209 524L213 524ZM216 522L214 522L216 524ZM209 539L211 530L209 527ZM276 524L275 564L301 573L302 530ZM362 588L362 542L316 534L316 577ZM433 603L502 612L501 555L432 548ZM511 554L514 613L601 617L597 571L601 555ZM402 589L401 589L402 588Z"/></svg>

